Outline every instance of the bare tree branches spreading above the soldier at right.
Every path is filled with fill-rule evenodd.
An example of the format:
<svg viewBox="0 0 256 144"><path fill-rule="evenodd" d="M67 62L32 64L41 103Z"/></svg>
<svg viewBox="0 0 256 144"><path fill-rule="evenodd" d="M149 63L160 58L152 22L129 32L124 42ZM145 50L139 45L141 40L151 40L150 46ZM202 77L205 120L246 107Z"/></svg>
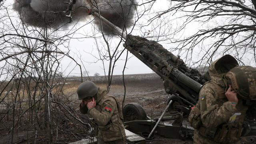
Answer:
<svg viewBox="0 0 256 144"><path fill-rule="evenodd" d="M256 65L255 0L170 0L168 9L150 18L172 16L169 42L187 62L211 63L231 54L240 64ZM253 61L251 61L253 59ZM243 63L242 61L246 61Z"/></svg>

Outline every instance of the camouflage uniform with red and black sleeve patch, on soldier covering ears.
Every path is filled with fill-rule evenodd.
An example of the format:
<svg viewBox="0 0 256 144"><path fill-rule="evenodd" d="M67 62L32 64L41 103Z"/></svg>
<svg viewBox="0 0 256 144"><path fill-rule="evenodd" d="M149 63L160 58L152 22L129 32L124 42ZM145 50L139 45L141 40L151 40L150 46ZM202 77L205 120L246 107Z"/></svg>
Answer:
<svg viewBox="0 0 256 144"><path fill-rule="evenodd" d="M98 124L98 144L124 144L125 130L122 123L122 112L114 96L98 88L96 106L88 110L87 106L79 106L82 114L89 114Z"/></svg>

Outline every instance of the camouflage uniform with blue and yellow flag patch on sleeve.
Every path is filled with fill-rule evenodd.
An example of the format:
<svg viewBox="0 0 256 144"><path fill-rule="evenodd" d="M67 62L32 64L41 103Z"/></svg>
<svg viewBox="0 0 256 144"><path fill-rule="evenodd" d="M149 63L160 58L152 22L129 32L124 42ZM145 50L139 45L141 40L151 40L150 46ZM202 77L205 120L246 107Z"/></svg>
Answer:
<svg viewBox="0 0 256 144"><path fill-rule="evenodd" d="M222 77L231 68L226 68L221 72L216 69L216 62L218 60L213 62L209 68L211 81L206 82L199 93L196 108L200 113L198 123L195 124L198 128L195 128L194 131L194 143L242 143L240 136L248 106L244 106L241 99L238 99L236 106L228 101ZM194 114L191 111L189 117L192 116Z"/></svg>

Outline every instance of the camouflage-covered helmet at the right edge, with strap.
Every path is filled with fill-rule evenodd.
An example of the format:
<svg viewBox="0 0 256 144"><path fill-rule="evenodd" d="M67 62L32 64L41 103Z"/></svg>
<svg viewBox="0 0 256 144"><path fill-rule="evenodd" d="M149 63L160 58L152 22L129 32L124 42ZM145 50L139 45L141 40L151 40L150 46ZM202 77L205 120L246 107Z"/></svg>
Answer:
<svg viewBox="0 0 256 144"><path fill-rule="evenodd" d="M238 66L226 74L226 80L242 99L256 100L256 68Z"/></svg>

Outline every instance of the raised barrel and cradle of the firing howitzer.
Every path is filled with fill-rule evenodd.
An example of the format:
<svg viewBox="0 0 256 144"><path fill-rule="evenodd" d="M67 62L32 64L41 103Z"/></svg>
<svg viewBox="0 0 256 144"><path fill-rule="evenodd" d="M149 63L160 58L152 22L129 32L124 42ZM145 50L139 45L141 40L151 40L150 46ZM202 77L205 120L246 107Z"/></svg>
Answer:
<svg viewBox="0 0 256 144"><path fill-rule="evenodd" d="M94 16L126 40L123 46L163 79L166 93L174 94L172 99L182 104L176 108L188 113L188 107L194 106L198 100L202 84L209 79L198 70L188 68L180 57L163 48L161 44L139 36L126 35L98 13L94 13Z"/></svg>

